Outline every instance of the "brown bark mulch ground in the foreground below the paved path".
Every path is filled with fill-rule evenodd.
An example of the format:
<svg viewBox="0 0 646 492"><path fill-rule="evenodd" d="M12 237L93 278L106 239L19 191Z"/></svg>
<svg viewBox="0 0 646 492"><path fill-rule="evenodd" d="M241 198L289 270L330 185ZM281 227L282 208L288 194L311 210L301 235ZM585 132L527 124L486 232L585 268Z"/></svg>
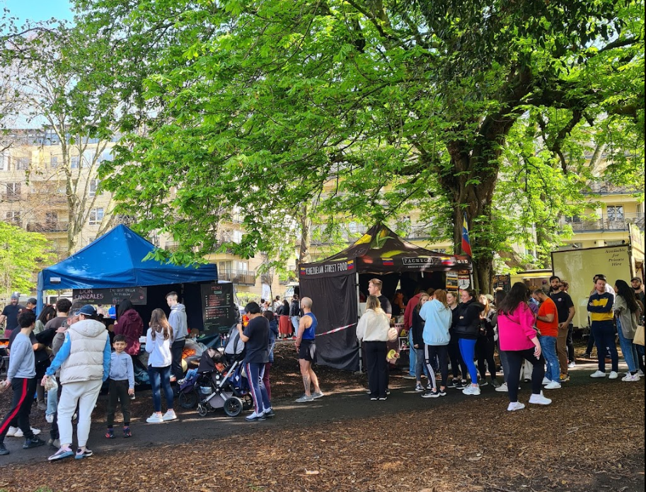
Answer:
<svg viewBox="0 0 646 492"><path fill-rule="evenodd" d="M299 394L289 353L284 365L289 372L277 360L275 391ZM349 373L323 372L326 386L362 384ZM642 383L604 381L558 390L553 405L513 413L500 399L480 397L415 412L393 406L380 418L258 425L215 442L7 464L0 491L641 492L644 402Z"/></svg>

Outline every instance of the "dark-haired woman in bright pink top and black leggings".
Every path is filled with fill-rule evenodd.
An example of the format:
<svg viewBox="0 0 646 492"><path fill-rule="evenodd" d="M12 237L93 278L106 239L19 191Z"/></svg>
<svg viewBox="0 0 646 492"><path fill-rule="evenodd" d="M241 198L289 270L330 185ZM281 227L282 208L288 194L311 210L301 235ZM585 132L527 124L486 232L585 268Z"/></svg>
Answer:
<svg viewBox="0 0 646 492"><path fill-rule="evenodd" d="M536 321L529 309L529 289L523 282L516 282L507 297L498 306L498 337L500 350L507 355L509 374L507 388L509 389L509 406L507 410L521 410L524 404L518 401L518 382L520 368L524 360L533 364L531 372L531 396L529 403L549 405L552 400L543 396L541 383L545 376L545 359L541 354L541 343L538 333L533 328Z"/></svg>

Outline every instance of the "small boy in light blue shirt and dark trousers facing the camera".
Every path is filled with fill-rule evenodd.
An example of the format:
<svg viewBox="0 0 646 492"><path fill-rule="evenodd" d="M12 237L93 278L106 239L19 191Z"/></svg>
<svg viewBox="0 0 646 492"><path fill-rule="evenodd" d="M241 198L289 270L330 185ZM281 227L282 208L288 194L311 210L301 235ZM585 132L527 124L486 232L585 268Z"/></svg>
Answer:
<svg viewBox="0 0 646 492"><path fill-rule="evenodd" d="M116 335L110 355L110 379L108 381L108 431L105 437L114 439L115 410L121 401L123 413L123 437L130 437L130 395L134 394L134 369L132 357L125 353L127 342L123 335Z"/></svg>

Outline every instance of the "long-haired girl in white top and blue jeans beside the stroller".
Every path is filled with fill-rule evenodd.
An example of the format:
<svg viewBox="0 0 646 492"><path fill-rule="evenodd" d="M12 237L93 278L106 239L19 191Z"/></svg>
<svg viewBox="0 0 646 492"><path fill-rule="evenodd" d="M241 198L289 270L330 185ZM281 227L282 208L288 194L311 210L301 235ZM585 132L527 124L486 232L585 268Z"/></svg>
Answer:
<svg viewBox="0 0 646 492"><path fill-rule="evenodd" d="M148 423L174 421L177 416L173 410L173 389L171 389L171 344L173 328L168 324L166 313L154 309L150 317L150 328L146 333L146 352L148 356L148 376L153 392L154 413L146 418ZM166 396L168 411L161 414L161 389Z"/></svg>

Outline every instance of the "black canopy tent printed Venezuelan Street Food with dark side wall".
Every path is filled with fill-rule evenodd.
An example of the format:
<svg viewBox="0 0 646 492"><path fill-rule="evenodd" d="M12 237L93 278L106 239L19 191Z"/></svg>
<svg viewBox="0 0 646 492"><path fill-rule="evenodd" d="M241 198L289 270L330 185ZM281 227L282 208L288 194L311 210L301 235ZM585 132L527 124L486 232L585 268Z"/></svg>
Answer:
<svg viewBox="0 0 646 492"><path fill-rule="evenodd" d="M367 294L371 278L383 282L386 297L392 297L400 284L410 298L417 287L444 287L445 273L451 270L470 272L470 258L420 248L381 224L371 227L340 253L317 263L301 264L301 296L312 299L312 312L318 319L318 364L359 369L359 292Z"/></svg>

